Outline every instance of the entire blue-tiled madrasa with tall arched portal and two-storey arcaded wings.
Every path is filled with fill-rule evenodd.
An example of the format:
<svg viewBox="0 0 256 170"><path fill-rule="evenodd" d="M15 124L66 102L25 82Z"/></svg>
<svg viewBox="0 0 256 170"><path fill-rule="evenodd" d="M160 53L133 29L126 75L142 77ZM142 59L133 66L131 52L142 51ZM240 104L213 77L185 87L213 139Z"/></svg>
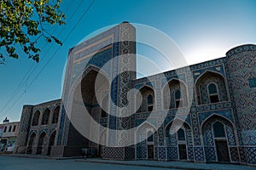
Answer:
<svg viewBox="0 0 256 170"><path fill-rule="evenodd" d="M61 99L23 106L15 153L255 164L256 45L137 79L135 40L124 22L71 48Z"/></svg>

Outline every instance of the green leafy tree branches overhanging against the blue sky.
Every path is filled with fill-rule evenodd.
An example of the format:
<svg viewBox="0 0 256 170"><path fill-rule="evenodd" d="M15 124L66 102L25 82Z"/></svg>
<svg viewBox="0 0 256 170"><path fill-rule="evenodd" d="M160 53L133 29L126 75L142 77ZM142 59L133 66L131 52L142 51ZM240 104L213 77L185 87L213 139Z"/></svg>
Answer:
<svg viewBox="0 0 256 170"><path fill-rule="evenodd" d="M0 64L6 56L18 59L16 49L20 46L29 58L39 61L40 48L36 46L43 37L46 42L62 42L51 35L46 26L65 24L65 14L61 12L61 0L0 0Z"/></svg>

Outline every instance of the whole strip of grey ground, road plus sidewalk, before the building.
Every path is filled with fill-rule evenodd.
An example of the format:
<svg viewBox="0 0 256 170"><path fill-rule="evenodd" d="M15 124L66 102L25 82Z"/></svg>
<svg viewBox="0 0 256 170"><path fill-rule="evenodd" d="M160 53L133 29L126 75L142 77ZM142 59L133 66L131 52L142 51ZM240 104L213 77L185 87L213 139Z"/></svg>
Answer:
<svg viewBox="0 0 256 170"><path fill-rule="evenodd" d="M38 158L38 159L34 159ZM82 157L63 158L52 156L12 155L0 156L0 169L11 170L80 170L80 169L104 169L104 170L163 170L163 169L223 169L223 170L256 170L256 167L217 164L217 163L193 163L187 161L113 161L97 158L84 159Z"/></svg>

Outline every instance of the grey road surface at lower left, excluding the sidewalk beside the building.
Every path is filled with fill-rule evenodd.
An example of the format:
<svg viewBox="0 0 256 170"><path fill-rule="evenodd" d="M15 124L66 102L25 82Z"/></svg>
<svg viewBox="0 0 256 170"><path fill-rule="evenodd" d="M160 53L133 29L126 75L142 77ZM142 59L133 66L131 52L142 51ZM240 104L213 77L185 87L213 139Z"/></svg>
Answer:
<svg viewBox="0 0 256 170"><path fill-rule="evenodd" d="M75 160L47 160L14 156L0 156L2 170L166 170L157 167L135 167L102 163L79 162Z"/></svg>

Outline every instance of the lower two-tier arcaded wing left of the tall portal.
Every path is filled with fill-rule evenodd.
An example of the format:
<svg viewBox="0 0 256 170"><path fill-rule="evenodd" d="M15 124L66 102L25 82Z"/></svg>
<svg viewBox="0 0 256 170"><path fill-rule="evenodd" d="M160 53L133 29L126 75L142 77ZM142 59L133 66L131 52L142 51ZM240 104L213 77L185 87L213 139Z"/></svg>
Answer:
<svg viewBox="0 0 256 170"><path fill-rule="evenodd" d="M15 153L49 155L55 144L61 99L24 105Z"/></svg>

